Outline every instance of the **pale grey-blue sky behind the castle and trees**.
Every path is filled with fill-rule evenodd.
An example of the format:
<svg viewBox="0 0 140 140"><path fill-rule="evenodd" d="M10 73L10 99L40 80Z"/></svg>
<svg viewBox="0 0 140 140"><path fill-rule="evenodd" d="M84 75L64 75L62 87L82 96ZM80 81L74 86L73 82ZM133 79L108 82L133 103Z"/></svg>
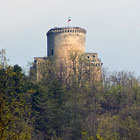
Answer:
<svg viewBox="0 0 140 140"><path fill-rule="evenodd" d="M96 52L110 71L140 76L140 0L0 0L0 49L9 64L26 68L47 55L54 27L86 29L86 52Z"/></svg>

